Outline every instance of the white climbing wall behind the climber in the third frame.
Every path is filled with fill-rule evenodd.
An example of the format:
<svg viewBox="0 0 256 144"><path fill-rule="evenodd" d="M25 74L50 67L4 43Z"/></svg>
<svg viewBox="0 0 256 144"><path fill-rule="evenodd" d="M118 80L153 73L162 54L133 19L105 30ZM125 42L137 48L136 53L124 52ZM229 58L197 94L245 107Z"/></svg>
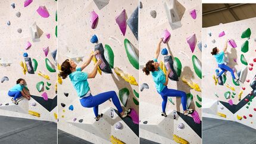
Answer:
<svg viewBox="0 0 256 144"><path fill-rule="evenodd" d="M180 98L171 97L175 105L171 104L170 101L168 101L166 107L166 112L168 116L166 118L161 116L162 98L155 89L155 84L153 82L152 76L146 76L145 74L143 74L142 71L142 68L145 66L146 62L154 58L154 52L157 48L157 44L162 36L163 31L167 29L171 33L170 40L168 41L171 54L173 55L173 57L179 58L180 62L182 63L182 73L179 77L179 81L176 82L169 79L168 88L191 93L193 95L193 101L190 108L196 109L201 118L201 108L196 107L195 104L196 101L199 102L196 98L196 95L201 97L201 92L196 92L194 89L191 89L191 87L183 83L181 80L181 77L185 76L186 79L198 83L199 87L201 88L201 79L196 75L192 64L192 55L196 55L199 61L201 61L201 51L198 48L198 43L201 42L201 1L176 1L178 5L177 10L184 12L180 21L182 26L177 29L172 29L172 27L168 23L166 10L164 8L165 1L142 0L141 2L142 8L139 9L139 76L140 86L142 83L147 83L149 89L144 89L141 92L140 136L158 143L173 143L174 141L172 140L172 134L176 134L177 136L188 140L189 143L201 143L201 137L199 137L198 134L196 134L191 129L191 127L186 124L186 122L181 117L179 117L179 115L176 120L173 120L173 110L183 112ZM183 6L183 8L181 5ZM195 20L189 14L189 12L194 9L196 10L197 14ZM155 18L151 17L150 14L153 10L157 12L157 16ZM192 36L194 33L196 35L197 41L195 51L193 51L192 53L186 41L186 38ZM164 43L161 44L161 50L163 48L167 48L167 45ZM170 54L170 51L168 51L168 54ZM158 62L160 61L164 61L164 55L161 55L161 52L158 57ZM201 104L201 102L199 102L199 104ZM148 126L147 124L143 124L144 121L148 121ZM165 123L168 123L167 126L165 125L165 123L161 123L161 121L166 121ZM185 124L185 128L177 130L177 125L179 123ZM158 127L158 129L155 129L155 127ZM167 136L166 134L161 134L161 130L168 133Z"/></svg>

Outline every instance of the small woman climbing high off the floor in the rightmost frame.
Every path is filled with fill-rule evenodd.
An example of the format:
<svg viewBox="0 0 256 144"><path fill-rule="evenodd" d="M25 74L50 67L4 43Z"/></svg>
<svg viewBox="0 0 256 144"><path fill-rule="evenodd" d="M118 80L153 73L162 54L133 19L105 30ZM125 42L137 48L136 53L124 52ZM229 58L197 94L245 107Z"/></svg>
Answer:
<svg viewBox="0 0 256 144"><path fill-rule="evenodd" d="M225 71L229 71L232 75L233 80L235 80L235 82L238 82L238 79L236 79L233 70L229 66L224 64L224 53L226 53L226 51L227 51L227 42L228 42L228 40L226 40L226 42L225 42L223 51L220 51L220 49L215 47L215 48L213 48L213 51L211 52L211 54L214 55L214 57L216 58L216 62L218 64L218 67L222 70L218 74L216 79L218 79L218 77L220 77Z"/></svg>

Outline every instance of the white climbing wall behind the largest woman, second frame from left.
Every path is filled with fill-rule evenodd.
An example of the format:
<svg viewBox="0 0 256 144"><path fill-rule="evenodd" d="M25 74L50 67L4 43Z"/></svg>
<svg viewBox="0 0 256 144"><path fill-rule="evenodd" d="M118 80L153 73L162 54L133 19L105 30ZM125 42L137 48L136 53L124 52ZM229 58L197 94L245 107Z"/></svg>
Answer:
<svg viewBox="0 0 256 144"><path fill-rule="evenodd" d="M101 2L99 2L102 4ZM104 2L103 2L104 3ZM58 1L58 62L61 63L67 58L82 57L83 62L89 58L91 51L94 51L95 43L90 42L90 38L93 35L98 37L99 43L110 45L114 52L114 67L121 68L124 73L129 73L135 77L139 82L139 73L132 64L130 64L126 51L124 48L124 39L129 39L135 46L136 52L138 52L138 40L133 35L130 27L127 25L126 35L123 36L118 24L115 22L115 17L126 10L127 19L132 15L133 11L138 7L138 1L109 1L105 7L97 7L98 1ZM104 5L104 4L102 4ZM98 25L95 29L91 29L89 24L90 12L95 11L98 14ZM78 67L82 62L78 62ZM85 68L85 72L92 71L94 67L93 62L90 62L88 67ZM96 95L101 92L114 90L118 95L118 90L127 87L130 91L129 99L127 101L126 108L133 108L139 113L139 106L135 105L133 98L136 96L133 94L133 89L138 91L138 86L131 85L125 82L121 77L117 76L112 69L113 74L102 75L99 73L95 79L89 79L89 86L92 95ZM68 93L68 96L64 95ZM138 143L138 136L127 127L123 121L118 118L110 118L110 111L108 108L115 108L114 104L110 101L106 101L99 106L99 113L104 114L102 120L96 122L94 120L93 108L85 108L80 104L77 97L76 90L72 86L70 79L63 80L63 84L58 84L58 129L64 130L67 133L71 133L75 136L86 139L93 143L110 143L110 136L114 135L117 139L125 143ZM65 104L65 107L61 106L61 103ZM73 105L74 110L68 109L70 105ZM122 104L121 104L122 105ZM123 106L123 105L122 105ZM107 110L105 110L107 109ZM77 118L76 121L73 121ZM83 119L80 123L79 120ZM114 124L118 121L124 126L122 130L114 130ZM95 133L92 133L95 130Z"/></svg>

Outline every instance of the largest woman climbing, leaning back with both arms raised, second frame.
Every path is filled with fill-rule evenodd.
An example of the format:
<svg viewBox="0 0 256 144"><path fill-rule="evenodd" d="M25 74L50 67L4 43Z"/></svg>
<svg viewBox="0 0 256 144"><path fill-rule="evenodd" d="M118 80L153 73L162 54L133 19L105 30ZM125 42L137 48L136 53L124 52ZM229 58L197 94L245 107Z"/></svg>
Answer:
<svg viewBox="0 0 256 144"><path fill-rule="evenodd" d="M77 65L72 60L65 60L63 64L61 64L61 72L59 76L65 79L68 75L73 84L74 88L76 89L77 95L79 96L80 103L83 107L92 108L95 114L95 120L98 121L99 118L102 117L103 114L98 114L98 107L100 104L104 103L108 99L112 99L115 107L117 108L118 112L120 113L121 117L126 117L127 114L130 113L131 109L127 109L127 111L123 111L121 108L119 99L117 94L114 91L103 92L99 93L98 95L93 96L90 92L90 87L88 83L88 79L95 78L97 74L97 68L99 64L101 64L101 60L98 60L95 64L91 73L82 72L85 67L90 64L92 61L93 56L99 54L99 51L95 51L93 54L90 54L89 59L82 64L81 67L76 68Z"/></svg>

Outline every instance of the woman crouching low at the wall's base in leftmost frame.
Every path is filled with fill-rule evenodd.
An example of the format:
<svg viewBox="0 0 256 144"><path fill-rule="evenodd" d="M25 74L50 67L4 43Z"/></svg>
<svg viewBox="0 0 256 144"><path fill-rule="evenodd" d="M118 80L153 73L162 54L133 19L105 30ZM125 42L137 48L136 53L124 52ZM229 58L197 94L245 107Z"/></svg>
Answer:
<svg viewBox="0 0 256 144"><path fill-rule="evenodd" d="M16 99L20 98L21 96L24 96L26 99L30 99L30 94L28 92L29 89L24 85L25 83L26 82L24 79L18 79L15 86L11 87L8 92L8 95L13 97L11 98L11 101L13 101L15 105L18 105Z"/></svg>

